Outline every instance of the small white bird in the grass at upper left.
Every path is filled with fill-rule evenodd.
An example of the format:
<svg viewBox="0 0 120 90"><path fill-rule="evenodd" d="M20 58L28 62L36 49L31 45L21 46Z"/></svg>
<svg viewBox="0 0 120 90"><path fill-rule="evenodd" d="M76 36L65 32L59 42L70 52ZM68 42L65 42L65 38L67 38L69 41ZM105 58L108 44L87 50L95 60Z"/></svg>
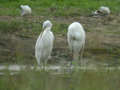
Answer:
<svg viewBox="0 0 120 90"><path fill-rule="evenodd" d="M32 10L30 8L30 6L28 5L20 5L20 8L21 8L21 16L24 16L24 15L29 15L32 13Z"/></svg>

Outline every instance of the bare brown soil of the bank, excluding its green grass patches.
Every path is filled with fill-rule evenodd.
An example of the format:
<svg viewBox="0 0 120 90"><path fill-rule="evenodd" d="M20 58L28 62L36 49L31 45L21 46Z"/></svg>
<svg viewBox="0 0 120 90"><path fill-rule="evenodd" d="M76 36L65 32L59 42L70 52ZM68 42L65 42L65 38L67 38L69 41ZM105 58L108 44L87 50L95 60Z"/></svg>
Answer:
<svg viewBox="0 0 120 90"><path fill-rule="evenodd" d="M45 20L45 17L27 17L30 21ZM0 16L0 20L22 19L22 17ZM120 64L120 18L116 15L106 17L51 17L54 23L70 24L79 21L86 31L84 59L87 63ZM0 63L36 63L34 46L38 36L21 37L12 33L0 32ZM52 59L49 63L63 63L72 60L68 50L66 34L55 34Z"/></svg>

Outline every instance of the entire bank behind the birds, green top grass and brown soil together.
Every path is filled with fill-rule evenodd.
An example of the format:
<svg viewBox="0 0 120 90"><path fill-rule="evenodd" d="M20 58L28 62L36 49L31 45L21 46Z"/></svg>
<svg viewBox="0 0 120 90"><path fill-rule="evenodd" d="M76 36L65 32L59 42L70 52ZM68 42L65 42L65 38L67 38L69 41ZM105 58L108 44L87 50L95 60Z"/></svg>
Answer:
<svg viewBox="0 0 120 90"><path fill-rule="evenodd" d="M31 16L20 16L21 4L31 6ZM71 60L66 33L68 25L78 21L87 36L85 59L119 65L119 4L119 0L0 0L0 62L35 63L36 39L42 31L43 21L50 19L56 38L52 62ZM110 7L112 14L90 17L89 14L101 5Z"/></svg>

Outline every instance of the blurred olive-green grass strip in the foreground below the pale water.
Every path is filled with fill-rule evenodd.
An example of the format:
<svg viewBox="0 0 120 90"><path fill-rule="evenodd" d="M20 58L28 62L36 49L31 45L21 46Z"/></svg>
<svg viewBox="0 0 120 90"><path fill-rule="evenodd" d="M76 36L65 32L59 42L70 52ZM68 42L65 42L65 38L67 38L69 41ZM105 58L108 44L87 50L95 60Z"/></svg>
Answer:
<svg viewBox="0 0 120 90"><path fill-rule="evenodd" d="M53 75L50 72L25 70L0 77L0 90L119 90L120 72L79 71Z"/></svg>

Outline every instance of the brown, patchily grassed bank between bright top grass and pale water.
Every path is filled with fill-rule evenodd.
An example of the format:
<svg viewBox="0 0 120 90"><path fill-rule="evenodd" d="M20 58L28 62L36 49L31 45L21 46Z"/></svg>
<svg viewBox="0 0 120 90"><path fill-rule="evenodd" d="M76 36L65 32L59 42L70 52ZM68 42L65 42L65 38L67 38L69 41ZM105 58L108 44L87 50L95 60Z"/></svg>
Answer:
<svg viewBox="0 0 120 90"><path fill-rule="evenodd" d="M33 64L34 46L36 39L42 31L44 17L0 17L0 57L1 63ZM87 17L76 16L72 18L54 17L52 31L55 34L52 62L70 61L66 40L67 28L73 21L79 21L86 31L86 46L84 57L91 62L106 62L110 65L120 64L120 19L119 16Z"/></svg>

